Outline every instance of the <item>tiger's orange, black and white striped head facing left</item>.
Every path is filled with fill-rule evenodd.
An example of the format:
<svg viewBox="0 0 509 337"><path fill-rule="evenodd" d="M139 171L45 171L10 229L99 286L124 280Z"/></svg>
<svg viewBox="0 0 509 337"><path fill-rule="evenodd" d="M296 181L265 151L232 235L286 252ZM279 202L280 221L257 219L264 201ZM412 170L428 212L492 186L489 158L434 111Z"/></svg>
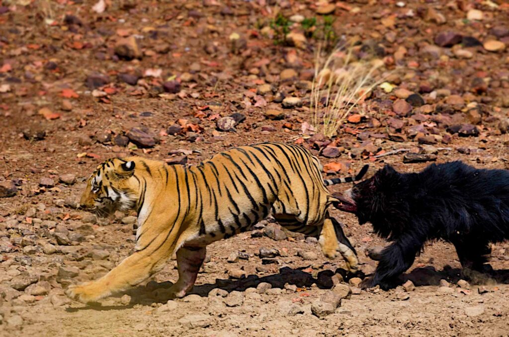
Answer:
<svg viewBox="0 0 509 337"><path fill-rule="evenodd" d="M135 167L135 161L129 158L108 159L97 166L81 195L80 207L100 216L133 209L139 199Z"/></svg>

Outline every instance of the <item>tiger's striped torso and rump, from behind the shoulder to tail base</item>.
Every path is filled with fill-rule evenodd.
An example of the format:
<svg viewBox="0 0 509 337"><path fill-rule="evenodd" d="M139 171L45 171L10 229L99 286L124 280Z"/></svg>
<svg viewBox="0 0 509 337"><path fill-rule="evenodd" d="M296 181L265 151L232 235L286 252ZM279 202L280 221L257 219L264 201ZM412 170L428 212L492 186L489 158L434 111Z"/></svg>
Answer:
<svg viewBox="0 0 509 337"><path fill-rule="evenodd" d="M186 174L196 188L189 191L190 202L197 205L193 220L198 231L189 244L230 237L269 213L289 229L308 226L311 233L312 226L323 222L331 198L318 159L295 145L232 148Z"/></svg>

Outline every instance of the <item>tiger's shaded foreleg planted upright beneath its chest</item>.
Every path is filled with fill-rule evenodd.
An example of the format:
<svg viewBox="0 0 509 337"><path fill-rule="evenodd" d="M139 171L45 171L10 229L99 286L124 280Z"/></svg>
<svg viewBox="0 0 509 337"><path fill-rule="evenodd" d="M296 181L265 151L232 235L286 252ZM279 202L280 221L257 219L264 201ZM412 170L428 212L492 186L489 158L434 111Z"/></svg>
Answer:
<svg viewBox="0 0 509 337"><path fill-rule="evenodd" d="M205 247L182 247L177 250L178 281L169 289L171 295L181 298L194 286L196 276L205 260Z"/></svg>

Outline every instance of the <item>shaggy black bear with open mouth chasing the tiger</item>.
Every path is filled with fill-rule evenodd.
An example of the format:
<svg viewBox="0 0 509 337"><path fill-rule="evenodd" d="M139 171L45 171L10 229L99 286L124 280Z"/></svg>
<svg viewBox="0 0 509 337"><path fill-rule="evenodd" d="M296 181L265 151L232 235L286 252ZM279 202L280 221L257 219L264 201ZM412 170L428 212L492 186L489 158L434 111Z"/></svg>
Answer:
<svg viewBox="0 0 509 337"><path fill-rule="evenodd" d="M348 193L347 193L348 194ZM456 247L463 268L483 271L489 243L509 239L509 171L476 169L462 162L430 165L420 173L385 166L355 185L338 208L393 241L380 255L365 287L395 287L427 240Z"/></svg>

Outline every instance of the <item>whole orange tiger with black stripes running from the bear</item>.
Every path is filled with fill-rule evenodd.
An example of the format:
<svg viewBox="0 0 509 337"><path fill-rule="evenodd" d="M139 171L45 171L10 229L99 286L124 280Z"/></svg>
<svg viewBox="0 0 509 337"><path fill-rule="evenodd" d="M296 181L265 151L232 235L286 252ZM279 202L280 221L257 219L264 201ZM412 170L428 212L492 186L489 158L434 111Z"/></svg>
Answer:
<svg viewBox="0 0 509 337"><path fill-rule="evenodd" d="M108 159L87 180L80 206L99 215L135 210L134 251L103 277L71 285L66 293L96 302L146 280L176 253L179 278L167 293L181 298L193 288L207 245L269 214L290 231L318 238L325 256L341 254L355 272L355 249L327 211L341 201L326 186L359 180L366 170L324 180L315 155L284 143L235 147L188 167L142 157Z"/></svg>

